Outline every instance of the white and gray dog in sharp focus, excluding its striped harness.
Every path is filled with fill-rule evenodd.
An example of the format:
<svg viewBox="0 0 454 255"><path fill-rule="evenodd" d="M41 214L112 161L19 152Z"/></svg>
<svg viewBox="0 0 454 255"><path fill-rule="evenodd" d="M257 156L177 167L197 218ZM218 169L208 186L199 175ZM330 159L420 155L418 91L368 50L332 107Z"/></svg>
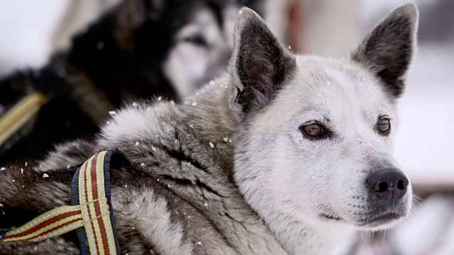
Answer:
<svg viewBox="0 0 454 255"><path fill-rule="evenodd" d="M347 232L391 227L411 208L392 140L417 23L405 4L332 60L292 54L243 8L223 77L181 105L133 103L96 145L61 145L40 169L1 171L0 227L69 203L66 166L106 148L128 161L111 169L122 253L326 254ZM0 251L79 252L70 235Z"/></svg>

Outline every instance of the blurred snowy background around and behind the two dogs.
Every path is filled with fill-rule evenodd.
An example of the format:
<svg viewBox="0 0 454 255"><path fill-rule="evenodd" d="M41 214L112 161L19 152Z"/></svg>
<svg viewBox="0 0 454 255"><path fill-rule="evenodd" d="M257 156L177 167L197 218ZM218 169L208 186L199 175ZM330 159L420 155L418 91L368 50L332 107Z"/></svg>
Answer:
<svg viewBox="0 0 454 255"><path fill-rule="evenodd" d="M0 77L43 67L120 1L1 1ZM261 8L270 28L295 52L341 58L404 2L268 0ZM415 2L421 11L419 50L399 102L395 144L417 196L414 209L392 230L358 233L338 254L454 254L454 1Z"/></svg>

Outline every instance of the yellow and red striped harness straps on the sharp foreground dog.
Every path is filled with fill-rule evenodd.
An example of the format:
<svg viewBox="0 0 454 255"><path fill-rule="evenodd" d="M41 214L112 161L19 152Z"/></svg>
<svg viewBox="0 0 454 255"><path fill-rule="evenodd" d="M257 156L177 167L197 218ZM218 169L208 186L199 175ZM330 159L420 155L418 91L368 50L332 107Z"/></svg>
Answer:
<svg viewBox="0 0 454 255"><path fill-rule="evenodd" d="M121 154L114 150L99 152L77 169L71 183L72 205L55 208L26 225L0 232L0 243L40 242L76 230L81 254L120 254L111 210L113 157Z"/></svg>

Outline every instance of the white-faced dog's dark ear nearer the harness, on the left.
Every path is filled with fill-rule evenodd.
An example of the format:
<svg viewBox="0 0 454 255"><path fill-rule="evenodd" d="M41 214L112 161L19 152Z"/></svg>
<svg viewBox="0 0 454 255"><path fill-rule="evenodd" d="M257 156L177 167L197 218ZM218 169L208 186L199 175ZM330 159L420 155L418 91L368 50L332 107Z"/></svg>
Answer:
<svg viewBox="0 0 454 255"><path fill-rule="evenodd" d="M265 22L249 8L236 19L231 74L243 113L259 111L275 97L296 62Z"/></svg>

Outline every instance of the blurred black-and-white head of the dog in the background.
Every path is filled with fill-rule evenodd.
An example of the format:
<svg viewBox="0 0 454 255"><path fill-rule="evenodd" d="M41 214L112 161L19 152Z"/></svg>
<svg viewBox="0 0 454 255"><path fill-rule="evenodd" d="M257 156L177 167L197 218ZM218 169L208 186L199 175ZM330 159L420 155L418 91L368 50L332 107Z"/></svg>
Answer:
<svg viewBox="0 0 454 255"><path fill-rule="evenodd" d="M180 98L226 71L241 6L260 0L127 0L118 8L118 42L154 84L170 82Z"/></svg>

